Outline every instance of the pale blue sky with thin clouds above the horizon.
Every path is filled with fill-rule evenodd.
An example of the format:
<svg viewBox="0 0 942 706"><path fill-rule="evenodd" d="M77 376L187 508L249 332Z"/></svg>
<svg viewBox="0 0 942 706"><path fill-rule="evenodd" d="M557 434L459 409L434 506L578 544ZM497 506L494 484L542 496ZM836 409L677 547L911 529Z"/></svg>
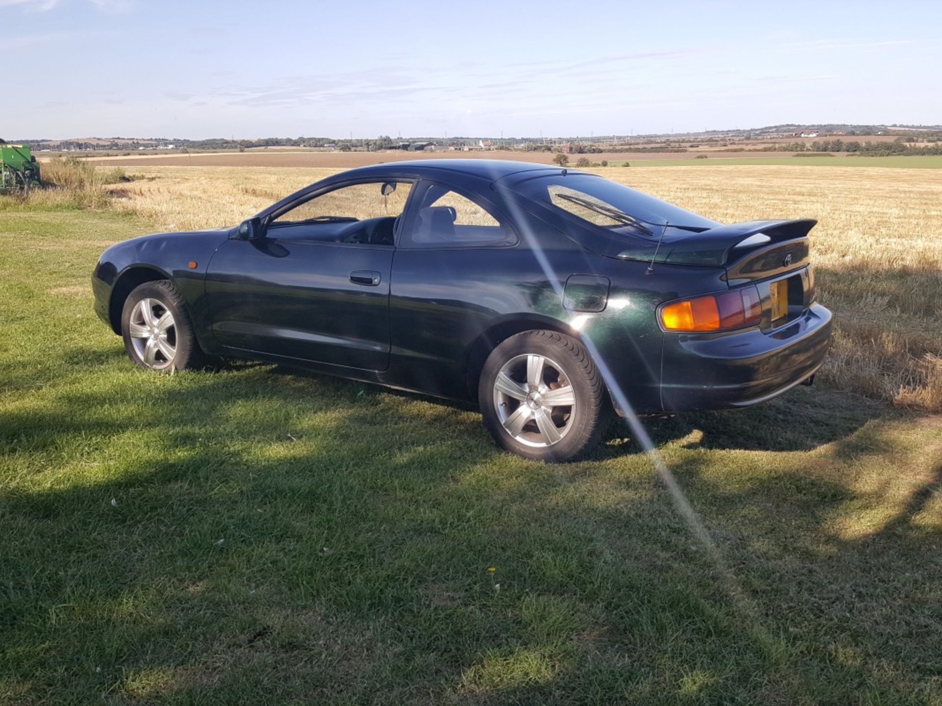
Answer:
<svg viewBox="0 0 942 706"><path fill-rule="evenodd" d="M0 0L0 26L8 139L942 122L934 2Z"/></svg>

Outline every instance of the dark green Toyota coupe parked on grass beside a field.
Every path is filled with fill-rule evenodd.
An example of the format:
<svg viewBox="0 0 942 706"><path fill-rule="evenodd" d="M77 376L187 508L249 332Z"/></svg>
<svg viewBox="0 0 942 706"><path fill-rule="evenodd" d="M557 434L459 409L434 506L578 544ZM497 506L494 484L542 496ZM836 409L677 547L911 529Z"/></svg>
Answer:
<svg viewBox="0 0 942 706"><path fill-rule="evenodd" d="M595 174L491 160L356 168L233 228L106 249L98 315L155 372L233 357L476 402L564 461L611 412L728 409L810 382L814 220L722 225Z"/></svg>

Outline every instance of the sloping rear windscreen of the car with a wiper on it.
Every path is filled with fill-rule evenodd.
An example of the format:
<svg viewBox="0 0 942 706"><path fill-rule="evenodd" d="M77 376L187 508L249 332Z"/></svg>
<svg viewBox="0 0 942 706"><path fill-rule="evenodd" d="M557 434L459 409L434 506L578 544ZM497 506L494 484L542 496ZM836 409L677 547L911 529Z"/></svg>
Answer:
<svg viewBox="0 0 942 706"><path fill-rule="evenodd" d="M552 174L529 179L516 190L570 216L612 231L652 235L648 226L713 228L716 223L667 201L592 174Z"/></svg>

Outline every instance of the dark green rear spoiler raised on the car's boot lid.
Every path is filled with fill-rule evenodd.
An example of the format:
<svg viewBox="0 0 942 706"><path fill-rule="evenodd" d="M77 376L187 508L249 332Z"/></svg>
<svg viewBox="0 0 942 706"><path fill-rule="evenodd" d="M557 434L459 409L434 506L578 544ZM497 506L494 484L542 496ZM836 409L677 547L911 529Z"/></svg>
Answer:
<svg viewBox="0 0 942 706"><path fill-rule="evenodd" d="M670 265L732 265L756 249L807 236L818 223L813 218L797 220L747 220L691 233L672 226L664 229L659 247L623 250L617 257ZM670 234L669 234L670 233ZM655 255L657 251L657 255Z"/></svg>

